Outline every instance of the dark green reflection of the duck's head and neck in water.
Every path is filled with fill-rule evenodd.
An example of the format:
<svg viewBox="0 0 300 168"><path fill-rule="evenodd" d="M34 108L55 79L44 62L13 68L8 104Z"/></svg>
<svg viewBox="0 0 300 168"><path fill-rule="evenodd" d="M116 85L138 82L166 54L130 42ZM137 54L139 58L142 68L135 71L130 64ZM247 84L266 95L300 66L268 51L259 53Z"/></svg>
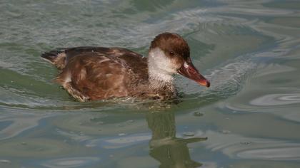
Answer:
<svg viewBox="0 0 300 168"><path fill-rule="evenodd" d="M173 112L149 113L146 119L152 130L150 156L161 163L159 167L201 167L201 163L191 160L187 144L207 140L206 137L177 138Z"/></svg>

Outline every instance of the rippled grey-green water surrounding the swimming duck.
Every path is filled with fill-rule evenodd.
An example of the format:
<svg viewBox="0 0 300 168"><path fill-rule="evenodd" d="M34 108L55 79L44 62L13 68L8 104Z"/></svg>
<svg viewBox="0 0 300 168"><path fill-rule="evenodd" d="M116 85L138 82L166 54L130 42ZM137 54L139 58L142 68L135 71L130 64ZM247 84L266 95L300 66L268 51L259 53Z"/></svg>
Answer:
<svg viewBox="0 0 300 168"><path fill-rule="evenodd" d="M0 167L299 167L300 1L2 0ZM180 33L181 103L79 103L39 55ZM163 106L163 107L160 107Z"/></svg>

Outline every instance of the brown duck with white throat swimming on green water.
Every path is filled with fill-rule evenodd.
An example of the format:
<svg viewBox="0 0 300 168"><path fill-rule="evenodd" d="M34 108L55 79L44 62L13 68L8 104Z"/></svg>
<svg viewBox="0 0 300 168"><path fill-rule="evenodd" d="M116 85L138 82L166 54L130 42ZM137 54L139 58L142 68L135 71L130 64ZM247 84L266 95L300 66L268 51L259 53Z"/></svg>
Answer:
<svg viewBox="0 0 300 168"><path fill-rule="evenodd" d="M177 33L160 33L148 57L119 47L81 46L41 54L59 69L54 79L80 102L111 98L171 100L178 96L174 75L210 86L191 61L188 43Z"/></svg>

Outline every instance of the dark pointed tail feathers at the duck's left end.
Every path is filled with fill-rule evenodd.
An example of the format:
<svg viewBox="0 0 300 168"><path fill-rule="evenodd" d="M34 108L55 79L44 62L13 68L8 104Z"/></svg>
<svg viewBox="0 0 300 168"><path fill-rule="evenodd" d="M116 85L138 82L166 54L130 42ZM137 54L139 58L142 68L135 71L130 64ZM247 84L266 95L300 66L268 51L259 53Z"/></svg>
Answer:
<svg viewBox="0 0 300 168"><path fill-rule="evenodd" d="M56 68L63 69L65 67L66 53L64 50L54 50L41 54L41 57L46 61L54 64Z"/></svg>

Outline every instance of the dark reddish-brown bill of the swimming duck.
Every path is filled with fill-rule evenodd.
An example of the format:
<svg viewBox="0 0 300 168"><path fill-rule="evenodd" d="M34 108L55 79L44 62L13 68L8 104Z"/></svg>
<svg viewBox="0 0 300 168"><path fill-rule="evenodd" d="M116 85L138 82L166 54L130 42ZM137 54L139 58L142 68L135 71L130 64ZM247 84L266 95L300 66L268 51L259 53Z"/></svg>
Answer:
<svg viewBox="0 0 300 168"><path fill-rule="evenodd" d="M199 85L206 86L207 88L211 85L209 80L206 80L206 78L199 73L190 60L184 62L184 65L179 68L178 73L184 75L186 78L196 81Z"/></svg>

